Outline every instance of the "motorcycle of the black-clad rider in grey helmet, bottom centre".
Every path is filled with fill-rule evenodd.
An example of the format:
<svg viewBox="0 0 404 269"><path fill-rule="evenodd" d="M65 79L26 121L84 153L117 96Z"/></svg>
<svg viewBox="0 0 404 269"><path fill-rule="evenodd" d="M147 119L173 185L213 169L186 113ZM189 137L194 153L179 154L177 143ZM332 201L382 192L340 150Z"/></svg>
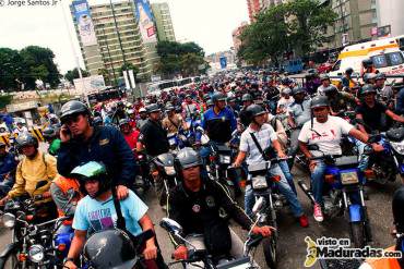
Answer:
<svg viewBox="0 0 404 269"><path fill-rule="evenodd" d="M168 233L176 235L177 237L182 240L183 244L187 245L187 247L191 248L188 252L189 258L168 262L168 266L182 264L183 268L186 268L187 265L192 265L194 267L202 268L202 269L204 268L205 269L258 269L260 268L253 261L253 253L254 253L253 250L263 240L262 235L253 235L250 231L248 234L248 239L243 245L243 256L240 258L230 259L230 260L222 259L217 264L214 261L212 255L207 253L204 246L204 243L203 243L202 235L191 235L189 237L190 240L182 237L180 235L182 233L181 225L178 224L176 221L168 219L168 218L163 218L163 220L161 221L161 227L165 229ZM200 265L201 262L203 265Z"/></svg>

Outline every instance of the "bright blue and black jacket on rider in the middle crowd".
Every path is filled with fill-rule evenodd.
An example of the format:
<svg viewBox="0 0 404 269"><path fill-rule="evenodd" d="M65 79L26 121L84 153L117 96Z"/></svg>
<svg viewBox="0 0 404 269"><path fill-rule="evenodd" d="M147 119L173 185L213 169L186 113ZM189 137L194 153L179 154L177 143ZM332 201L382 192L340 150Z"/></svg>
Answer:
<svg viewBox="0 0 404 269"><path fill-rule="evenodd" d="M211 140L225 143L230 140L233 131L237 129L237 120L227 107L218 114L211 108L203 114L202 127Z"/></svg>

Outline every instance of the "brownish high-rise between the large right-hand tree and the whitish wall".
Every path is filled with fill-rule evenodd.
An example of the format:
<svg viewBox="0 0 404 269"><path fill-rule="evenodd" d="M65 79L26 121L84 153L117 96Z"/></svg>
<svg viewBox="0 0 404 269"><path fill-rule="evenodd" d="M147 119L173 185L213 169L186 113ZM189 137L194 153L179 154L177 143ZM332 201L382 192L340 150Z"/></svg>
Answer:
<svg viewBox="0 0 404 269"><path fill-rule="evenodd" d="M372 38L372 28L378 24L376 0L328 0L323 4L329 4L337 14L334 24L326 28L325 48L340 48Z"/></svg>

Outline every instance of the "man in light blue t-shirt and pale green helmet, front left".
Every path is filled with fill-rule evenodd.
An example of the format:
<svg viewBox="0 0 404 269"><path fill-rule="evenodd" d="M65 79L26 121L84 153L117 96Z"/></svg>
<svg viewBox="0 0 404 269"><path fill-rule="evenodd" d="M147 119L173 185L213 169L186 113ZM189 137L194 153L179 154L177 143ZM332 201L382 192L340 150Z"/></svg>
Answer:
<svg viewBox="0 0 404 269"><path fill-rule="evenodd" d="M133 236L142 231L154 231L153 222L146 213L147 206L132 191L129 191L128 198L124 200L116 199L111 188L112 179L103 164L90 161L76 167L71 174L79 179L80 188L86 196L79 201L75 209L72 225L74 237L64 267L78 268L74 261L83 249L87 234L114 228L126 230ZM143 255L146 268L158 268L155 236L146 242Z"/></svg>

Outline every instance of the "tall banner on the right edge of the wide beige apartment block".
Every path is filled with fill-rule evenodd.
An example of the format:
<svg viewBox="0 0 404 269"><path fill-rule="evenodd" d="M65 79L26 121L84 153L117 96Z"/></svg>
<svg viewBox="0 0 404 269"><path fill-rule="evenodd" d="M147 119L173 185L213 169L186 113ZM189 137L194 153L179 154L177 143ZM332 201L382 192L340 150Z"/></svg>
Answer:
<svg viewBox="0 0 404 269"><path fill-rule="evenodd" d="M136 8L136 21L143 42L157 42L156 26L154 25L154 16L148 0L133 0Z"/></svg>

